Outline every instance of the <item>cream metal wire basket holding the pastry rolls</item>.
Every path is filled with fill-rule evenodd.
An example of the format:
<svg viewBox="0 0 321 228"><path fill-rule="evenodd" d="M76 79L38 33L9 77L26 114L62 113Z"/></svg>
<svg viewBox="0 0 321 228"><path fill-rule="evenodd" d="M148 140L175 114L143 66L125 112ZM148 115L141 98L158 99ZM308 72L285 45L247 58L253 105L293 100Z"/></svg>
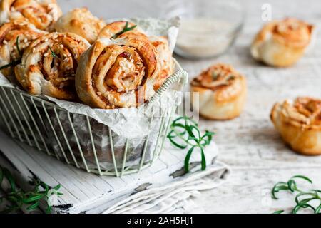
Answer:
<svg viewBox="0 0 321 228"><path fill-rule="evenodd" d="M176 90L182 90L187 83L188 74L183 71L177 61L175 64L178 71L163 83L163 86L145 104L147 107L153 105L171 86L176 84ZM159 119L156 138L150 138L150 135L144 136L142 146L134 153L136 163L133 163L130 162L133 152L128 149L131 140L125 139L121 147L122 151L117 151L119 148L117 149L113 144L115 135L110 127L93 122L94 120L87 115L76 114L78 118L86 122L88 137L85 141L88 141L87 145L91 145L89 156L88 152L83 150L84 140L79 138L79 129L73 121L75 113L70 113L55 103L29 95L19 89L0 86L0 120L3 122L0 127L2 129L6 130L12 138L36 147L47 155L98 175L121 177L149 167L163 150L170 121L176 108L177 105L173 106L167 112L168 114ZM62 119L61 114L65 118ZM153 121L153 116L151 116L151 121ZM96 147L94 132L97 125L106 131L106 138L108 138L106 151L98 151ZM54 142L56 147L51 142ZM106 159L110 160L111 167L103 167L102 164Z"/></svg>

